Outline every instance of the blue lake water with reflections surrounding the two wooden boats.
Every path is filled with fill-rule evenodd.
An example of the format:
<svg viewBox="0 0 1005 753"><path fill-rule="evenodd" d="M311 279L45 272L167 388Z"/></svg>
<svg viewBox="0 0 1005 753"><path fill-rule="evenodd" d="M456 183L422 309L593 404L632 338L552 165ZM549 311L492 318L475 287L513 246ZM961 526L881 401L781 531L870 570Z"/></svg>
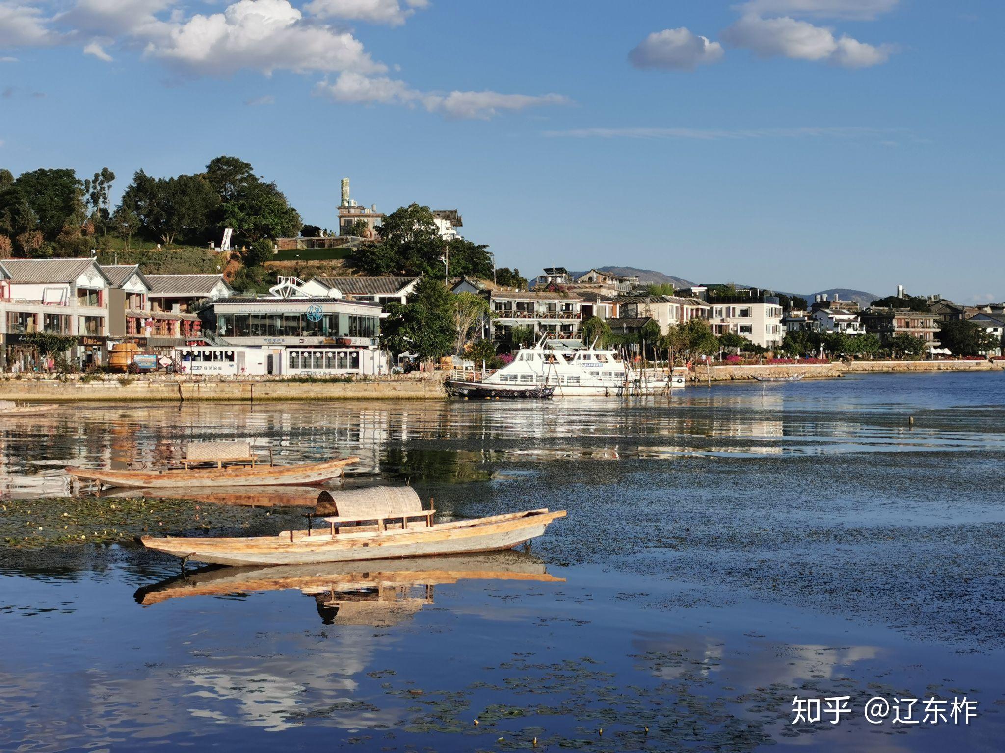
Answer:
<svg viewBox="0 0 1005 753"><path fill-rule="evenodd" d="M0 419L0 497L44 512L74 504L66 465L235 438L358 455L348 485L408 482L444 515L569 515L529 552L376 571L0 549L0 749L1001 750L1005 372L62 407ZM303 522L259 503L255 530ZM0 513L0 540L16 526ZM796 696L851 712L792 724ZM977 717L872 724L874 697Z"/></svg>

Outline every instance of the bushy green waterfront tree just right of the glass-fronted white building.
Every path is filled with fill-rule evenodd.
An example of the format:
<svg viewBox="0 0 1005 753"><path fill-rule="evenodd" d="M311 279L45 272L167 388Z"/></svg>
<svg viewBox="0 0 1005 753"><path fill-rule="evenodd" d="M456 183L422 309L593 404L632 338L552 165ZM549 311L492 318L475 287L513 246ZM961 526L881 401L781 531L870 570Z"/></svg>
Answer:
<svg viewBox="0 0 1005 753"><path fill-rule="evenodd" d="M385 306L388 316L381 325L385 346L394 353L414 352L423 358L451 352L456 338L453 298L441 280L423 277L408 303Z"/></svg>

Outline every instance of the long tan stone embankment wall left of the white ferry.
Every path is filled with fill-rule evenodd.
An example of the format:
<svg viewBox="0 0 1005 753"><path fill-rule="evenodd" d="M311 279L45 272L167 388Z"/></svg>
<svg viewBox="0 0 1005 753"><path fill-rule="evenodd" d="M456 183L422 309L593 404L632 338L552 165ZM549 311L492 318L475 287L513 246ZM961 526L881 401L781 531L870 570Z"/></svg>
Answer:
<svg viewBox="0 0 1005 753"><path fill-rule="evenodd" d="M104 376L84 381L22 374L0 375L0 400L62 401L277 401L277 400L439 400L446 397L439 374L407 374L359 382L289 382L267 378L179 374Z"/></svg>

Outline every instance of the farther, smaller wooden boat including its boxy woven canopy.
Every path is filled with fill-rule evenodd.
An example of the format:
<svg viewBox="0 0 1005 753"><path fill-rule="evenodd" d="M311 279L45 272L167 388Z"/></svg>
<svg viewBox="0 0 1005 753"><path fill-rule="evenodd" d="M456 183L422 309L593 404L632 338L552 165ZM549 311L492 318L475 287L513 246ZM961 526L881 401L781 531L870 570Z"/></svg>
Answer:
<svg viewBox="0 0 1005 753"><path fill-rule="evenodd" d="M67 468L72 478L99 487L131 489L182 489L187 487L311 486L341 477L359 458L320 463L274 465L260 463L247 442L193 442L186 448L180 468L113 471Z"/></svg>

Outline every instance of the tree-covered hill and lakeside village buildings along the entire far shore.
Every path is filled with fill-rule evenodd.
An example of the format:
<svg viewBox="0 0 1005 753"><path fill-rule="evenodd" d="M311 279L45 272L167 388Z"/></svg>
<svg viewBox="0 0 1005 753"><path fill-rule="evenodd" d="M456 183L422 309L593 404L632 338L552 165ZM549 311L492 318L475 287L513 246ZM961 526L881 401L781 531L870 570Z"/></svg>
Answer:
<svg viewBox="0 0 1005 753"><path fill-rule="evenodd" d="M1001 359L1005 343L1005 303L900 286L863 307L598 269L528 280L461 236L456 210L385 215L344 180L338 230L324 231L234 158L196 176L139 171L113 211L114 180L0 171L0 371L372 378L498 368L542 338L673 365ZM177 245L221 231L219 245Z"/></svg>

